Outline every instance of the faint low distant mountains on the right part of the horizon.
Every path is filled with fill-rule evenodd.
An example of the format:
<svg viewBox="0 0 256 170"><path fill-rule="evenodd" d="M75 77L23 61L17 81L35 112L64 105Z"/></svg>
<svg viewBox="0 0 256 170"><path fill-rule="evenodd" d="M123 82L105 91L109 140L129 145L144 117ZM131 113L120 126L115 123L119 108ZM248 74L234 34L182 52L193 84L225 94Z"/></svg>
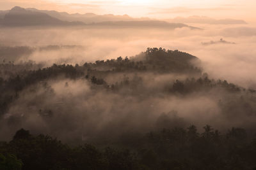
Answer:
<svg viewBox="0 0 256 170"><path fill-rule="evenodd" d="M230 24L247 24L244 20L234 20L234 19L222 19L216 20L210 17L204 16L191 16L191 17L176 17L172 19L167 19L168 22L181 22L185 24L223 24L223 25L230 25Z"/></svg>

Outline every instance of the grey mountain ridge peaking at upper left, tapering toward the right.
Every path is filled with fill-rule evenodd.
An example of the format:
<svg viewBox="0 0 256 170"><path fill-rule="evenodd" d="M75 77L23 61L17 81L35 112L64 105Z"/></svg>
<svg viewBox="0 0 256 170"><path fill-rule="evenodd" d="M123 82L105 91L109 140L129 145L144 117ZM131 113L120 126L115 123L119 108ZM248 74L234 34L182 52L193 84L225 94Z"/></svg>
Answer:
<svg viewBox="0 0 256 170"><path fill-rule="evenodd" d="M86 24L81 22L79 19L75 20L76 17L72 19L72 21L60 20L58 17L52 17L51 15L44 13L40 10L36 10L35 8L21 8L20 6L15 6L12 10L7 11L4 14L2 19L0 18L0 24L8 27L17 27L17 26L89 26L89 27L147 27L147 28L164 28L164 29L175 29L180 27L188 27L189 29L197 29L196 27L191 27L186 24L180 23L169 23L161 20L106 20L102 22L97 22L97 20L93 20L90 24ZM33 9L33 10L31 10ZM49 11L48 11L49 13ZM68 13L58 13L57 11L51 11L54 15L67 15ZM80 14L73 14L81 17ZM95 14L87 13L84 15L89 15L91 18L95 18ZM97 15L98 16L98 15ZM116 17L116 15L102 15L107 16L109 18ZM118 17L118 16L117 16ZM120 17L120 16L119 16ZM131 18L128 15L122 15L125 18ZM88 18L88 17L87 17Z"/></svg>

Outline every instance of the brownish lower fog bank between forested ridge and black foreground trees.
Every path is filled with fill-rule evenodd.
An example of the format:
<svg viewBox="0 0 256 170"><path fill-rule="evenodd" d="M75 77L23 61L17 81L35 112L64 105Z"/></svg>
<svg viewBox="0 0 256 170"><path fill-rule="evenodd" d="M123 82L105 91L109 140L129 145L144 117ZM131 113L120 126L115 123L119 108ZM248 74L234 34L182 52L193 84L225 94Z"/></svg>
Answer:
<svg viewBox="0 0 256 170"><path fill-rule="evenodd" d="M180 74L111 74L106 81L111 84L125 78L129 78L129 87L117 92L93 87L88 80L61 76L29 86L10 104L1 120L1 138L12 138L13 132L21 127L68 143L111 142L124 133L191 124L211 124L222 131L230 127L255 127L255 115L249 115L250 111L221 111L220 101L239 101L236 107L243 107L247 101L244 92L232 94L214 88L183 96L163 90L172 87L177 79L189 78ZM241 96L245 96L244 102Z"/></svg>

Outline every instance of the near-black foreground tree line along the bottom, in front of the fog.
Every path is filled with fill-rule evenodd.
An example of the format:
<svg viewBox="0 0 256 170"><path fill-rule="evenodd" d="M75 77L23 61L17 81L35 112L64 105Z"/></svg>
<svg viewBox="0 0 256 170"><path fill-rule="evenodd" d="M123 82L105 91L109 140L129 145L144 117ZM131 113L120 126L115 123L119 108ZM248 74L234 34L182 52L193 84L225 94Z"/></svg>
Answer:
<svg viewBox="0 0 256 170"><path fill-rule="evenodd" d="M51 136L20 129L0 143L2 169L255 169L256 142L246 131L225 134L205 125L174 127L122 137L109 148L68 146Z"/></svg>

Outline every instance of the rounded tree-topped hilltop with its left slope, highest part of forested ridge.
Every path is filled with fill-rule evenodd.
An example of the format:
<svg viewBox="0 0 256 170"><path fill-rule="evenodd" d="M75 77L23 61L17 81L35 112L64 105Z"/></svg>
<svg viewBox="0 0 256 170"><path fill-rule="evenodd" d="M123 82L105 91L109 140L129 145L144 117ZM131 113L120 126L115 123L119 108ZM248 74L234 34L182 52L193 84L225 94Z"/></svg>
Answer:
<svg viewBox="0 0 256 170"><path fill-rule="evenodd" d="M92 70L104 70L115 72L150 71L156 73L201 73L200 68L192 64L198 60L189 53L178 50L165 50L164 48L147 48L146 52L140 53L128 59L118 57L116 60L97 60L95 63L85 63L84 67Z"/></svg>

